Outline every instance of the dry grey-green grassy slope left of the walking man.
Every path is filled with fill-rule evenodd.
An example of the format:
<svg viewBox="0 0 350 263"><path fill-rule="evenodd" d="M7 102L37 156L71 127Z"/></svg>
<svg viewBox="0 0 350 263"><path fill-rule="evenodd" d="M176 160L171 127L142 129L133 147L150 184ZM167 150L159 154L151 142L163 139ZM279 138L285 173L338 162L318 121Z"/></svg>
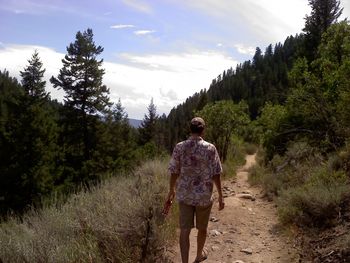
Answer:
<svg viewBox="0 0 350 263"><path fill-rule="evenodd" d="M62 206L3 222L0 262L166 262L176 225L176 209L161 215L166 164L147 162Z"/></svg>

